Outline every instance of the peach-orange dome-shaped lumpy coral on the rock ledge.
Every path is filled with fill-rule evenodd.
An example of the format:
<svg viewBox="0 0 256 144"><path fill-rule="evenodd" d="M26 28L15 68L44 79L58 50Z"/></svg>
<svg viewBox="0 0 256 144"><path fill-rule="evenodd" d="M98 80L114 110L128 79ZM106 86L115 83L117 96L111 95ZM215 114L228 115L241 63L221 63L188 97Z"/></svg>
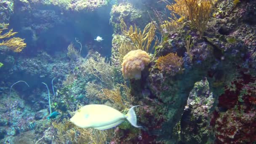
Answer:
<svg viewBox="0 0 256 144"><path fill-rule="evenodd" d="M149 54L146 51L134 50L127 53L123 58L122 72L125 79L141 78L141 71L150 62Z"/></svg>

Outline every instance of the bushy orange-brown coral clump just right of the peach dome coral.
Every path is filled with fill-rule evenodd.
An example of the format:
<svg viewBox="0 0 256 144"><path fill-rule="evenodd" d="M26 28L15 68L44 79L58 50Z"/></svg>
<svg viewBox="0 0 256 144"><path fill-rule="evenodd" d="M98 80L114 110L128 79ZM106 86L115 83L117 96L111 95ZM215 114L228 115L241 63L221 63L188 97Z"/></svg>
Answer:
<svg viewBox="0 0 256 144"><path fill-rule="evenodd" d="M177 53L168 53L166 56L160 56L160 58L157 59L156 66L161 72L175 75L183 70L181 67L182 64L183 59L177 56Z"/></svg>

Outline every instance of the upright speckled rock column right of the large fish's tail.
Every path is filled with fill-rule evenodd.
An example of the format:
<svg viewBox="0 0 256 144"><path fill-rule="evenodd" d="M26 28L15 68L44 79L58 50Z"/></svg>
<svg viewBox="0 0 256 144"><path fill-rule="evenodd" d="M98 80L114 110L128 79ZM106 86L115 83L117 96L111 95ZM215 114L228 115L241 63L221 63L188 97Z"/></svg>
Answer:
<svg viewBox="0 0 256 144"><path fill-rule="evenodd" d="M210 114L214 107L213 93L205 78L196 82L189 93L180 122L177 124L176 135L184 143L205 144L210 137Z"/></svg>

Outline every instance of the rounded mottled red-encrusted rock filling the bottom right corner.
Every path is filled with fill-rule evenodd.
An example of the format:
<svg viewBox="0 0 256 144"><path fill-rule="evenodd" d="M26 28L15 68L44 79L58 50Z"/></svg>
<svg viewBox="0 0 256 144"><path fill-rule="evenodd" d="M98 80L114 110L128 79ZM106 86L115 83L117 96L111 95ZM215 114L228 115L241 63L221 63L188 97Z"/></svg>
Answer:
<svg viewBox="0 0 256 144"><path fill-rule="evenodd" d="M256 140L256 110L248 113L230 109L216 120L217 144L240 144Z"/></svg>

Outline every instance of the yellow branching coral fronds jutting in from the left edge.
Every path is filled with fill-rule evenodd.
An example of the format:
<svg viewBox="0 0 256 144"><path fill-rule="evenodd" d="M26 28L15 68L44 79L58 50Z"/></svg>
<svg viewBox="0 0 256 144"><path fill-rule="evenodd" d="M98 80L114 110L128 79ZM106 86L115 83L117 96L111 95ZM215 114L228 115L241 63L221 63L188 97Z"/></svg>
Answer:
<svg viewBox="0 0 256 144"><path fill-rule="evenodd" d="M8 26L9 24L0 24L0 34L3 32L3 30L8 29ZM10 29L9 32L5 33L4 35L0 35L0 39L11 37L17 33L18 32L13 32L13 29ZM5 40L0 43L0 46L1 45L8 46L14 52L21 52L23 48L27 46L27 44L24 43L24 39L21 39L20 37L13 37L9 40Z"/></svg>

